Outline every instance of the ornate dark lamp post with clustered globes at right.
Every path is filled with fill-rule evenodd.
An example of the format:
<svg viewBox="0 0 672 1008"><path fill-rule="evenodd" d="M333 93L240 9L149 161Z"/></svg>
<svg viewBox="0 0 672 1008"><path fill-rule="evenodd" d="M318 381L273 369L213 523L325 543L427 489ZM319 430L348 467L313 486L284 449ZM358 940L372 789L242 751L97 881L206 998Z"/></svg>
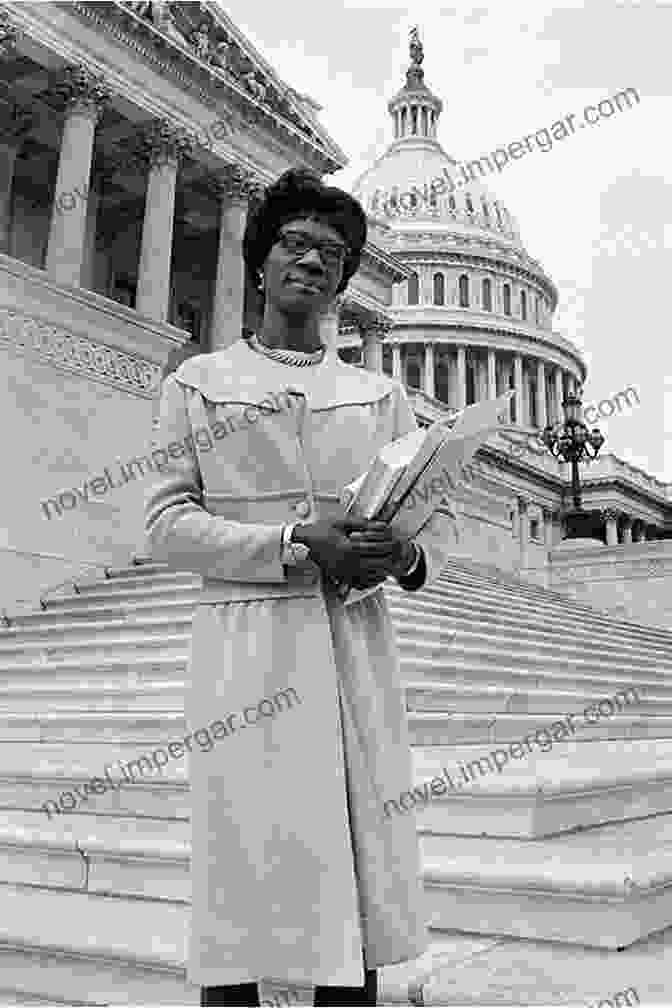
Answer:
<svg viewBox="0 0 672 1008"><path fill-rule="evenodd" d="M592 462L597 457L604 438L598 427L588 430L581 417L581 399L568 395L562 403L565 421L544 427L541 439L555 459L571 465L571 493L573 509L565 514L567 538L578 539L594 536L594 518L581 508L581 484L578 478L579 462Z"/></svg>

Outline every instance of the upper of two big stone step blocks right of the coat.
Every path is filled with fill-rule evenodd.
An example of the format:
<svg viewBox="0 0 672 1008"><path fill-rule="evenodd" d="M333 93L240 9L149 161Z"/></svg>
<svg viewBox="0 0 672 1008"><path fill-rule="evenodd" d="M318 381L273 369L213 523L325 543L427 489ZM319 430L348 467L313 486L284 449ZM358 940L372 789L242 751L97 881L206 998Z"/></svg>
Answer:
<svg viewBox="0 0 672 1008"><path fill-rule="evenodd" d="M534 838L672 810L672 742L551 738L541 751L538 738L416 747L413 792L382 795L381 814L414 814L421 833Z"/></svg>

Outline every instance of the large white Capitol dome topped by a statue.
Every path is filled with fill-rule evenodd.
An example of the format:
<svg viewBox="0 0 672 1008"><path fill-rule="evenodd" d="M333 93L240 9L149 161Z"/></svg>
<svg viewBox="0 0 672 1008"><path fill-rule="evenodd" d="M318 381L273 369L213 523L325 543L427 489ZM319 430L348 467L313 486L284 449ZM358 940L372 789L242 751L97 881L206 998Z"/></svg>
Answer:
<svg viewBox="0 0 672 1008"><path fill-rule="evenodd" d="M382 369L417 390L428 416L515 388L515 425L543 428L563 419L585 364L552 330L554 283L481 180L488 159L463 164L439 143L442 102L423 59L413 28L406 83L388 103L394 140L352 188L371 242L412 271L394 288Z"/></svg>

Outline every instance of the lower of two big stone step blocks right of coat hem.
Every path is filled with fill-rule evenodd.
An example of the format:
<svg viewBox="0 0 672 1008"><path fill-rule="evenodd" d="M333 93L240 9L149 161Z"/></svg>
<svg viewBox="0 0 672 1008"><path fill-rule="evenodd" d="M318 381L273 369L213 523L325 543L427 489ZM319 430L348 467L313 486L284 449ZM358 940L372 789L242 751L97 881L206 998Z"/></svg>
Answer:
<svg viewBox="0 0 672 1008"><path fill-rule="evenodd" d="M672 815L542 840L421 836L432 927L619 949L672 921Z"/></svg>

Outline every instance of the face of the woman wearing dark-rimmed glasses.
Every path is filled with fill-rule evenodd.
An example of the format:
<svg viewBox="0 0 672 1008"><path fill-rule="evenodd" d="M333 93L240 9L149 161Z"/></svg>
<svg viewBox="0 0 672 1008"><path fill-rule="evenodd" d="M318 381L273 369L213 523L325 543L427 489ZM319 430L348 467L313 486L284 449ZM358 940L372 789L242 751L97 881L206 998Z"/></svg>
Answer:
<svg viewBox="0 0 672 1008"><path fill-rule="evenodd" d="M317 248L310 247L312 241ZM267 305L287 314L322 311L341 283L346 252L339 232L324 221L302 218L283 224L264 263Z"/></svg>

